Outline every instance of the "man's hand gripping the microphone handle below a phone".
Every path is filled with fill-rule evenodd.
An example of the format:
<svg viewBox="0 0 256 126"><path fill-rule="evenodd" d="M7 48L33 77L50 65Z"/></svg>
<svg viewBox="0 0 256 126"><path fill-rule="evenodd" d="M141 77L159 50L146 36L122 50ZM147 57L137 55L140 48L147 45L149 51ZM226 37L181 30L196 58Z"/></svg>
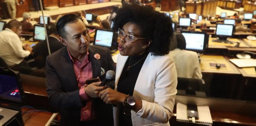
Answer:
<svg viewBox="0 0 256 126"><path fill-rule="evenodd" d="M99 97L99 92L106 88L105 86L99 87L100 84L101 82L94 82L89 84L88 86L84 87L85 93L93 98Z"/></svg>

